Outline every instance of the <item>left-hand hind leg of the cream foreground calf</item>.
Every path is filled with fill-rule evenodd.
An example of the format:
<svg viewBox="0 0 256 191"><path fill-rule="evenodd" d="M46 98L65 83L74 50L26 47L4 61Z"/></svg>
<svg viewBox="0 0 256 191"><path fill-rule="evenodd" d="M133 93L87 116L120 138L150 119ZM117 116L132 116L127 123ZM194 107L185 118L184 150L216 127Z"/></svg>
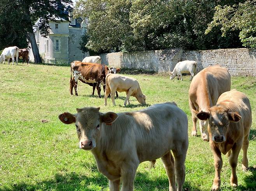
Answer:
<svg viewBox="0 0 256 191"><path fill-rule="evenodd" d="M169 191L176 191L175 185L175 169L174 169L174 158L172 157L171 151L161 157L163 166L165 167L166 174L169 180Z"/></svg>

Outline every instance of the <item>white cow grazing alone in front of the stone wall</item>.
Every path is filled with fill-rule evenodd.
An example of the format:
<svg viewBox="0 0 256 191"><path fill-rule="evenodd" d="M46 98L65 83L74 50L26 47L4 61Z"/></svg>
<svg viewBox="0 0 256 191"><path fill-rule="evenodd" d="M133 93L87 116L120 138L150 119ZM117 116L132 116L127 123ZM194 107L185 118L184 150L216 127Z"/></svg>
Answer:
<svg viewBox="0 0 256 191"><path fill-rule="evenodd" d="M181 81L182 81L182 74L183 73L189 74L190 72L191 74L190 81L191 81L196 74L196 67L197 67L197 63L196 61L193 61L193 60L184 60L182 62L178 62L175 65L174 70L171 72L170 79L174 79L174 77L178 74L178 79L179 79L179 76L181 76Z"/></svg>

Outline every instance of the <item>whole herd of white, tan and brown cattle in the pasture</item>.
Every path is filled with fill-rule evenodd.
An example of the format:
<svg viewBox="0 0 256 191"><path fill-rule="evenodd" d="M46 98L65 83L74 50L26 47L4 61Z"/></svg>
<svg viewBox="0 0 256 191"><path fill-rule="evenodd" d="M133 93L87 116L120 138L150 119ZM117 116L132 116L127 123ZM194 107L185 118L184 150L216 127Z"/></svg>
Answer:
<svg viewBox="0 0 256 191"><path fill-rule="evenodd" d="M12 48L12 49L10 49ZM18 57L18 47L4 49L1 59ZM18 60L18 59L17 59ZM86 57L70 65L70 93L77 96L77 82L93 86L100 97L101 85L105 91L105 105L110 95L113 105L117 91L126 92L126 103L130 96L146 104L137 80L116 74L119 68L101 64L100 57ZM221 153L227 154L231 166L230 185L237 186L237 159L242 148L242 169L248 169L247 149L252 124L251 106L247 96L231 90L228 69L219 65L210 66L195 75L195 61L178 62L170 79L177 74L191 73L188 91L189 108L192 114L192 135L196 136L196 122L202 139L210 142L214 156L215 177L212 190L221 184ZM193 78L193 79L192 79ZM188 117L177 104L161 103L135 112L100 112L100 107L77 108L76 114L64 112L59 115L65 124L75 123L79 148L90 150L98 170L109 179L110 191L133 191L137 167L150 161L154 166L161 158L169 180L169 190L182 191L185 181L185 159L188 150ZM172 153L171 153L172 151ZM176 184L177 187L176 187Z"/></svg>

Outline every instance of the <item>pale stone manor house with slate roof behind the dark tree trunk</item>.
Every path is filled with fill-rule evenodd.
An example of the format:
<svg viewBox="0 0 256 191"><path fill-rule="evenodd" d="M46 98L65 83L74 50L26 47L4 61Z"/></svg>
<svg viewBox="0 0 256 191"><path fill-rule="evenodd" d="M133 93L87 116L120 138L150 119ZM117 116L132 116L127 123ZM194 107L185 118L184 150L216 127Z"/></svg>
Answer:
<svg viewBox="0 0 256 191"><path fill-rule="evenodd" d="M79 19L74 19L73 9L70 6L63 13L68 14L70 21L63 18L54 18L49 21L50 31L46 38L41 36L39 29L34 29L42 62L55 63L56 59L57 62L67 63L74 60L82 61L87 56L87 53L82 53L78 47L88 22L83 20L80 23ZM29 50L29 57L34 61L32 49Z"/></svg>

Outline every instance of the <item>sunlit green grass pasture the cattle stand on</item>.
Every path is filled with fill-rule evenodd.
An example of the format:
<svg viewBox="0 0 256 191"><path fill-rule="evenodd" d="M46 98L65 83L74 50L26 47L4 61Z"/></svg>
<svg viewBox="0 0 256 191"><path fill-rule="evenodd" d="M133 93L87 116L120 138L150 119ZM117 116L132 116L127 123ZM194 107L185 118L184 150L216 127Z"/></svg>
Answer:
<svg viewBox="0 0 256 191"><path fill-rule="evenodd" d="M116 107L108 99L91 96L92 88L78 83L78 95L69 93L70 67L0 64L0 190L107 191L108 181L96 168L89 151L79 150L74 125L65 125L58 114L86 106L101 112L133 111L141 107L134 97L123 107L125 93L119 93ZM132 76L132 75L128 75ZM189 77L170 81L168 76L133 75L138 79L147 104L175 101L189 120L189 148L186 158L185 191L210 190L214 165L209 143L192 137L188 107ZM239 186L230 187L231 168L223 156L221 190L256 190L256 78L232 77L231 89L244 92L252 107L252 129L248 159L250 169L242 172L242 151L238 158ZM103 92L102 92L103 93ZM97 93L95 93L97 94ZM42 122L45 120L46 122ZM135 178L136 191L166 191L168 179L161 160L155 169L141 163Z"/></svg>

